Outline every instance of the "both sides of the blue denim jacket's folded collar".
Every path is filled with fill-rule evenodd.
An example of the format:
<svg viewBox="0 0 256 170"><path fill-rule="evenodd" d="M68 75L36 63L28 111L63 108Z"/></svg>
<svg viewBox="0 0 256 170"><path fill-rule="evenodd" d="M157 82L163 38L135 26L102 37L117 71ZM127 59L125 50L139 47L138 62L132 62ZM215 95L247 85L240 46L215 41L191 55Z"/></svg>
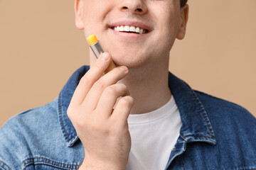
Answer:
<svg viewBox="0 0 256 170"><path fill-rule="evenodd" d="M73 73L58 96L58 118L68 147L72 147L79 138L68 118L67 109L75 88L89 69L89 66L82 66ZM186 140L186 142L208 142L211 145L215 145L216 140L213 128L210 125L210 120L203 108L203 104L198 96L196 96L195 91L170 72L169 88L181 113L181 137L183 140Z"/></svg>

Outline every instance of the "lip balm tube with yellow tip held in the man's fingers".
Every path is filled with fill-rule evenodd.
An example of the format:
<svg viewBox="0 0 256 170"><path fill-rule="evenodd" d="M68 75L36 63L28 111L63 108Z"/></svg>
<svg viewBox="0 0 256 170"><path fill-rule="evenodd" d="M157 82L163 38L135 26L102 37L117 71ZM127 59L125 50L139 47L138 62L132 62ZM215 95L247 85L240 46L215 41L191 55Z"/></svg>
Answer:
<svg viewBox="0 0 256 170"><path fill-rule="evenodd" d="M94 34L87 37L87 41L90 44L90 48L92 52L95 54L95 57L98 59L100 57L100 54L104 52L102 49L100 42L97 40L96 36ZM112 69L114 69L116 65L114 64L113 60L110 61L109 67L105 70L105 74L107 72L110 72Z"/></svg>

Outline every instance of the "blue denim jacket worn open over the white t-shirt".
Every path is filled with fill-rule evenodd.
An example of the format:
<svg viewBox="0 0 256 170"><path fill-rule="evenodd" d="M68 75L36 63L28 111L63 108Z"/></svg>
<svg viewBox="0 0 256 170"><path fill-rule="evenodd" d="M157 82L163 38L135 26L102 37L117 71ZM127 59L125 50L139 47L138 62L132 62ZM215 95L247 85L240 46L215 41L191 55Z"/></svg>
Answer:
<svg viewBox="0 0 256 170"><path fill-rule="evenodd" d="M84 149L66 111L88 69L78 69L51 103L5 123L0 169L79 168ZM166 169L256 169L256 120L245 108L193 91L171 73L169 88L183 125Z"/></svg>

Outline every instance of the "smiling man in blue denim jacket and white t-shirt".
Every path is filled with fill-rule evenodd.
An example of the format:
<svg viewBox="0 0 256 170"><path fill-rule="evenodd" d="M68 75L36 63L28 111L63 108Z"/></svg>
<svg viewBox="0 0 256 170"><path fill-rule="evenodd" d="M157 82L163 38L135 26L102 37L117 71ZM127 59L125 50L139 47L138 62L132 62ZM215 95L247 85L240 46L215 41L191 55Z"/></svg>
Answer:
<svg viewBox="0 0 256 170"><path fill-rule="evenodd" d="M187 20L182 0L76 0L76 26L106 52L4 125L0 168L256 169L255 118L168 72Z"/></svg>

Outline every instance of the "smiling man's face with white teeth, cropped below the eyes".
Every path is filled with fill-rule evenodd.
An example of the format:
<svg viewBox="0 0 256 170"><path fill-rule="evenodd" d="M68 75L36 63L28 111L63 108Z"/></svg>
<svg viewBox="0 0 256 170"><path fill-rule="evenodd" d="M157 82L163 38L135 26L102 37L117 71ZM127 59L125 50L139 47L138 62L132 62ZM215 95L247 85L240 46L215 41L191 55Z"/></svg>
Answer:
<svg viewBox="0 0 256 170"><path fill-rule="evenodd" d="M169 57L175 38L185 35L179 1L76 0L76 26L85 37L95 34L116 64L151 64Z"/></svg>

